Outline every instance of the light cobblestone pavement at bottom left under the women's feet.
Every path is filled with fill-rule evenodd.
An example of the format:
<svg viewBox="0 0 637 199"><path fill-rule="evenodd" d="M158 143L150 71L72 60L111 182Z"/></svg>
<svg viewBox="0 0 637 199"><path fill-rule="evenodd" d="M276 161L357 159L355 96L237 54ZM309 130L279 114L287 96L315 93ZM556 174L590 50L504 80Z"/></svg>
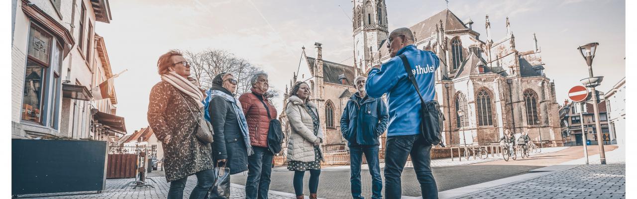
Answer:
<svg viewBox="0 0 637 199"><path fill-rule="evenodd" d="M96 191L82 191L73 193L54 193L54 194L34 194L34 195L20 195L18 198L107 198L107 199L132 199L132 198L166 198L168 195L169 183L166 182L164 177L150 177L147 179L148 184L151 184L155 188L140 187L132 189L133 186L129 185L129 182L134 179L108 179L106 180L106 189L102 193L96 193ZM183 191L184 198L188 198L192 188L197 185L197 178L193 175L188 178L186 182L186 188ZM122 187L124 187L122 189ZM293 194L287 193L275 193L271 191L268 198L282 199L282 198L294 198ZM245 188L241 185L231 184L230 198L245 198Z"/></svg>

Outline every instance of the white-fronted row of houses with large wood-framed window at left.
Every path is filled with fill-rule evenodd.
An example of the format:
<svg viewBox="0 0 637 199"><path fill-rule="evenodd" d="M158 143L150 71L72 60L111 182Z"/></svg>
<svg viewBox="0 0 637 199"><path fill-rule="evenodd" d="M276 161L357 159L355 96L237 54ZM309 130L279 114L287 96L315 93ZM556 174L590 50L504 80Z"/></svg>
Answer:
<svg viewBox="0 0 637 199"><path fill-rule="evenodd" d="M118 117L104 38L108 0L11 2L12 138L115 141Z"/></svg>

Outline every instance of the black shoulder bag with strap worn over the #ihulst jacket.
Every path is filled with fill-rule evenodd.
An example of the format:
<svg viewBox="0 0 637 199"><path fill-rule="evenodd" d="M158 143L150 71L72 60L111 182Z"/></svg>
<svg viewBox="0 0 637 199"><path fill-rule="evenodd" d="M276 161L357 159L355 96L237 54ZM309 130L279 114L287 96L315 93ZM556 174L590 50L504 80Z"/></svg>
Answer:
<svg viewBox="0 0 637 199"><path fill-rule="evenodd" d="M429 144L440 144L441 147L445 147L445 144L440 142L442 140L442 125L444 124L443 121L445 120L445 115L440 112L440 104L438 104L438 101L436 100L426 102L422 98L418 83L416 82L416 78L413 76L412 67L409 64L409 61L407 61L407 57L405 57L403 54L398 56L403 60L404 71L407 73L407 76L411 80L413 87L416 88L418 96L420 96L420 115L422 115L422 121L420 122L420 131L422 132L422 136Z"/></svg>

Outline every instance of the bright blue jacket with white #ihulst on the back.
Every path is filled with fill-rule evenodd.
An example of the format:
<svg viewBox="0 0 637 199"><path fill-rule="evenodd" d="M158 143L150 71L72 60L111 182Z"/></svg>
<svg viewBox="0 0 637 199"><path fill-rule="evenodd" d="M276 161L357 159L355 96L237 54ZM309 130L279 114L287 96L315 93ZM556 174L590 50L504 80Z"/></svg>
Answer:
<svg viewBox="0 0 637 199"><path fill-rule="evenodd" d="M414 45L401 48L387 63L369 71L365 89L372 98L380 98L387 93L389 104L389 126L387 136L417 135L420 132L420 97L413 87L403 61L398 55L404 54L410 63L420 93L425 102L434 99L435 71L440 59L431 51L419 50Z"/></svg>

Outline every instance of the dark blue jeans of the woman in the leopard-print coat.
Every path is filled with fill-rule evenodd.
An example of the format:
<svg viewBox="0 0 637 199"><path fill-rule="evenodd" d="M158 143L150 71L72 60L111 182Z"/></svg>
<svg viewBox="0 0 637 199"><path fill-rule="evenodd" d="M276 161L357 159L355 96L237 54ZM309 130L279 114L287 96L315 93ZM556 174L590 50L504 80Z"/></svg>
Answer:
<svg viewBox="0 0 637 199"><path fill-rule="evenodd" d="M215 172L212 169L201 170L195 173L197 175L197 186L192 189L190 193L190 199L201 199L208 195L208 189L215 182ZM183 188L186 187L186 181L188 177L178 179L170 182L170 188L168 189L168 199L183 199Z"/></svg>

